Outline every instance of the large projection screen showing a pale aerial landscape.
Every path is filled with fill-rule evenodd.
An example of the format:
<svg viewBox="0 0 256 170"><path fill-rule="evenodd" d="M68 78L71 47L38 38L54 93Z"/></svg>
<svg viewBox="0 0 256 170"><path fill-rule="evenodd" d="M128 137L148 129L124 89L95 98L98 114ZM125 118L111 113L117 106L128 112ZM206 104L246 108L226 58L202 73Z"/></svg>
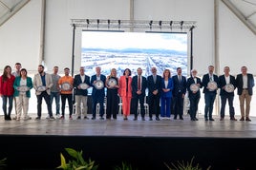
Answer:
<svg viewBox="0 0 256 170"><path fill-rule="evenodd" d="M82 31L81 66L86 74L109 75L111 68L117 69L117 77L125 68L132 70L132 76L141 67L142 75L151 75L150 68L156 66L161 76L165 68L176 74L182 68L187 75L187 34L171 32L121 32L121 31Z"/></svg>

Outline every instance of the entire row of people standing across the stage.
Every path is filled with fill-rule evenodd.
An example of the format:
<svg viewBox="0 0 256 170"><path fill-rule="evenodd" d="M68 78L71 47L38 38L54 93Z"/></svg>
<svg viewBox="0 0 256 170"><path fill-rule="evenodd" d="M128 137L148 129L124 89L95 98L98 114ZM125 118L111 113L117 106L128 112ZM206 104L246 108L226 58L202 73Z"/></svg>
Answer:
<svg viewBox="0 0 256 170"><path fill-rule="evenodd" d="M116 68L111 69L109 76L101 74L101 68L96 66L96 74L89 77L85 74L83 66L79 68L79 74L75 77L70 76L70 69L64 68L64 76L58 75L58 66L53 67L53 73L44 71L44 66L38 66L38 73L34 75L33 81L27 76L26 68L21 68L20 63L15 64L15 72L11 73L11 66L5 66L0 77L0 95L3 100L3 111L5 120L11 120L12 103L15 104L15 119L19 121L32 119L28 115L29 99L32 87L35 89L37 98L37 117L42 116L42 100L44 99L48 109L48 119L55 120L53 117L52 104L55 101L56 115L58 119L65 119L66 100L69 104L69 119L73 119L74 114L74 95L76 119L89 119L88 111L88 88L93 87L92 91L92 120L96 120L96 110L98 109L99 119L104 120L104 103L106 104L106 119L117 119L119 99L121 100L123 120L128 120L130 114L134 115L134 121L145 121L146 88L148 89L149 121L160 119L170 119L171 113L174 120L178 116L183 120L184 96L188 93L190 102L189 115L191 121L198 121L197 112L201 99L200 88L203 87L204 93L204 120L214 121L212 117L213 104L217 90L220 88L221 96L221 119L224 120L224 110L226 101L229 104L230 120L237 121L233 106L234 90L240 100L241 119L240 121L251 121L249 119L250 101L254 78L247 73L247 67L242 66L241 74L235 78L229 74L229 67L224 66L224 75L214 74L214 66L208 66L208 73L203 75L203 80L197 77L197 70L191 70L191 76L186 77L181 74L181 67L177 68L177 75L171 76L171 71L165 69L162 76L157 74L157 68L151 68L152 75L147 78L142 76L142 68L137 69L137 75L131 77L131 70L124 69L123 75L117 78ZM105 87L107 95L105 97ZM61 113L60 113L61 99ZM105 101L106 99L106 101ZM9 107L7 107L9 104ZM138 109L139 108L139 109ZM61 115L60 115L61 114Z"/></svg>

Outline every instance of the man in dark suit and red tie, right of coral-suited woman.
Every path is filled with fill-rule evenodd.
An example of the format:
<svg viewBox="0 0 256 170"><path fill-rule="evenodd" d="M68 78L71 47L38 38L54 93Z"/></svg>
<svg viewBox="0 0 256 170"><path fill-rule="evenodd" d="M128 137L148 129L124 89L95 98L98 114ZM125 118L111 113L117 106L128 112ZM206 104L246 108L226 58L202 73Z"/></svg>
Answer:
<svg viewBox="0 0 256 170"><path fill-rule="evenodd" d="M144 107L144 98L145 98L145 89L147 88L147 80L143 77L142 69L139 67L137 69L137 76L133 77L132 80L132 104L131 112L135 115L134 121L138 120L138 102L140 105L140 115L141 120L145 121L145 107Z"/></svg>

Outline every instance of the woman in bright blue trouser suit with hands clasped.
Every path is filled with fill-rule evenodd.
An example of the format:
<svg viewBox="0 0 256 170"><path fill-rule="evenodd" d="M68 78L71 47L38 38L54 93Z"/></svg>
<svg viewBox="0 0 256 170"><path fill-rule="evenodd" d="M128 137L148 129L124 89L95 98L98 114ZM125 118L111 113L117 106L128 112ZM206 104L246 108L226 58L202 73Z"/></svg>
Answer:
<svg viewBox="0 0 256 170"><path fill-rule="evenodd" d="M161 84L160 117L161 119L170 119L173 80L171 78L171 71L169 69L165 69L163 71Z"/></svg>

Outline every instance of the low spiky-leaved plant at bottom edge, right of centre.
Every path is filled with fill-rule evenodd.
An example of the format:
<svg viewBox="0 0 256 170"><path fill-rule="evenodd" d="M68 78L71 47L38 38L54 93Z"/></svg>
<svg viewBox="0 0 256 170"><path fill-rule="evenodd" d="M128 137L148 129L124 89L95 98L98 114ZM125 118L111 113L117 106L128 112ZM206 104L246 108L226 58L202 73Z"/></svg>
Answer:
<svg viewBox="0 0 256 170"><path fill-rule="evenodd" d="M170 167L168 164L164 162L164 164L167 166L169 170L202 170L202 168L199 166L199 163L194 166L193 164L194 157L191 161L187 161L186 163L184 161L177 161L177 164L171 163L173 167ZM211 166L209 166L206 170L209 170Z"/></svg>

